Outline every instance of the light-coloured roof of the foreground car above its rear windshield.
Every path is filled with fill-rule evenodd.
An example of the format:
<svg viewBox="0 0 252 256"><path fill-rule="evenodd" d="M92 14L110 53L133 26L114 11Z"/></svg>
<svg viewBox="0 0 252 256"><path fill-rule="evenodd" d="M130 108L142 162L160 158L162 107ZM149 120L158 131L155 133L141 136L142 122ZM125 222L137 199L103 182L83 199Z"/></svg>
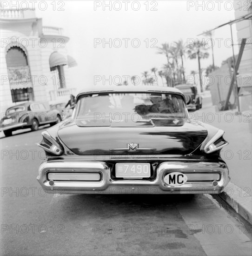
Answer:
<svg viewBox="0 0 252 256"><path fill-rule="evenodd" d="M158 93L175 93L184 97L184 94L177 88L161 86L93 86L80 91L76 99L82 94L89 93L106 93L106 92L158 92Z"/></svg>

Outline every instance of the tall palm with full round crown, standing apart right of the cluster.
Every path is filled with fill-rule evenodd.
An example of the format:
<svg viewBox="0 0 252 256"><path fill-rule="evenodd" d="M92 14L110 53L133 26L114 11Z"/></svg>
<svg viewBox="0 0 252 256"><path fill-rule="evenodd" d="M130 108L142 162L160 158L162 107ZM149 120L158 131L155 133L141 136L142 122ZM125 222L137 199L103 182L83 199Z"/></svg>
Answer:
<svg viewBox="0 0 252 256"><path fill-rule="evenodd" d="M198 58L198 65L199 65L199 83L200 83L200 90L203 92L203 86L202 86L202 75L201 75L201 67L200 67L200 59L205 59L209 57L209 53L207 53L204 50L207 50L206 48L206 43L201 41L201 42L193 42L188 45L188 58L189 59L196 59Z"/></svg>

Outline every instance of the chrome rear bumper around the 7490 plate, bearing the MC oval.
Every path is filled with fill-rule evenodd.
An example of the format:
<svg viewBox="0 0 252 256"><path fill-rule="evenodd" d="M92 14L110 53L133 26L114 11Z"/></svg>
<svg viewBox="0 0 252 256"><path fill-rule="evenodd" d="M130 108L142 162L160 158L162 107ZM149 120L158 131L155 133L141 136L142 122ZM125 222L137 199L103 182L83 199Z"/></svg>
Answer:
<svg viewBox="0 0 252 256"><path fill-rule="evenodd" d="M182 172L185 175L190 173L191 177L194 173L219 173L220 179L216 186L213 185L213 181L187 181L183 185L174 187L164 182L165 175L170 172ZM50 173L100 174L100 179L96 181L50 180L48 178ZM37 180L48 193L63 194L219 194L230 180L228 168L223 162L162 162L156 168L156 173L153 181L113 180L106 162L48 161L40 165ZM49 175L49 177L56 176Z"/></svg>

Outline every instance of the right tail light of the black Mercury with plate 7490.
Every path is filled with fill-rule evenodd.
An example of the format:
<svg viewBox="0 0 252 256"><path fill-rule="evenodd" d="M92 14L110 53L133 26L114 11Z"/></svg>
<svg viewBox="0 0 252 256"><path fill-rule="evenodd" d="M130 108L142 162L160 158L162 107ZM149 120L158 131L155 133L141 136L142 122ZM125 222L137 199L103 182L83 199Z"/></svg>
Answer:
<svg viewBox="0 0 252 256"><path fill-rule="evenodd" d="M212 153L214 151L217 151L217 150L225 147L226 145L228 145L229 143L224 140L223 135L224 135L224 131L223 130L219 130L212 137L212 139L206 143L206 145L203 148L203 151L206 154L210 154L210 153Z"/></svg>

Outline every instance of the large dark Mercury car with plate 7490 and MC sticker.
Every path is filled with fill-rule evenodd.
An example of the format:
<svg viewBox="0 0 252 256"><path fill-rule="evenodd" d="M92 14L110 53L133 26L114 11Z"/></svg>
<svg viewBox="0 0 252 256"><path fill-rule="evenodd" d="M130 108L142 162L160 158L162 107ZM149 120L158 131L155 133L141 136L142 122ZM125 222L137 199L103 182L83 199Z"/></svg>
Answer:
<svg viewBox="0 0 252 256"><path fill-rule="evenodd" d="M224 131L190 120L176 88L85 89L73 116L42 132L48 193L218 194L229 182Z"/></svg>

